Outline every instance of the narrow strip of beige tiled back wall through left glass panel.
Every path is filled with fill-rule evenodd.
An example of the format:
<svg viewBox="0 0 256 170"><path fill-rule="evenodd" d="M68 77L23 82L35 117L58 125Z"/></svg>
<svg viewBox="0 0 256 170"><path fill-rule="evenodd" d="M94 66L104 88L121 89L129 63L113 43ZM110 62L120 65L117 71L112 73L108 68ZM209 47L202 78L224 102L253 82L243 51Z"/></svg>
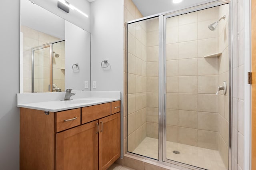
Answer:
<svg viewBox="0 0 256 170"><path fill-rule="evenodd" d="M158 138L159 19L147 21L147 136Z"/></svg>

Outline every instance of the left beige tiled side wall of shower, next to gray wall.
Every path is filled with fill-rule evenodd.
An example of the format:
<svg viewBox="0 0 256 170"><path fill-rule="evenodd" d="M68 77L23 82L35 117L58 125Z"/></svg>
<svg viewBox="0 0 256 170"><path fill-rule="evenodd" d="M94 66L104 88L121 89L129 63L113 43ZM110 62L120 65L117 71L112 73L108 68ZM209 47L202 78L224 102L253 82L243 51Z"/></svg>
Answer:
<svg viewBox="0 0 256 170"><path fill-rule="evenodd" d="M132 0L125 1L124 22L134 20L136 18L142 18L142 15L138 11ZM124 34L126 34L125 28ZM146 43L146 22L142 21L134 24L129 24L128 151L130 152L132 152L138 146L138 144L140 144L140 142L146 137ZM126 48L124 47L124 54L126 54L125 49ZM126 61L126 59L124 59L124 61ZM126 70L124 70L124 74L126 75L125 71ZM124 89L125 88L126 87L124 87ZM126 113L124 113L124 115L126 115ZM124 117L124 122L125 121L126 117Z"/></svg>

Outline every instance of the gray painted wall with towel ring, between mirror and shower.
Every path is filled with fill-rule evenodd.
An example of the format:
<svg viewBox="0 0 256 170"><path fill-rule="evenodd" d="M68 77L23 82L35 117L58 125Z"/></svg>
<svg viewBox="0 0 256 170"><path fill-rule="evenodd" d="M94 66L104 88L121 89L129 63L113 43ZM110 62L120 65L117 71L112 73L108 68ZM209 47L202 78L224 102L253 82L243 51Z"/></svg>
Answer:
<svg viewBox="0 0 256 170"><path fill-rule="evenodd" d="M91 87L97 81L97 91L121 91L123 110L124 67L124 1L96 0L91 2ZM100 63L108 60L110 67L102 69ZM123 139L123 113L121 112L121 139ZM123 140L121 140L123 148ZM121 149L121 155L123 150Z"/></svg>

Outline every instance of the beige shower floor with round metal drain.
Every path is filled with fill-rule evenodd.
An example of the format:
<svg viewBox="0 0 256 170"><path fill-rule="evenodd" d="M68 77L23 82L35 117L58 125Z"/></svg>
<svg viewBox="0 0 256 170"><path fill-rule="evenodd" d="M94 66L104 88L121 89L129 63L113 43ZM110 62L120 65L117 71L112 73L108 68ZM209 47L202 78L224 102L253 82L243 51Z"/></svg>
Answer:
<svg viewBox="0 0 256 170"><path fill-rule="evenodd" d="M178 150L180 154L174 154L172 152L173 150ZM158 139L146 137L138 147L135 148L133 153L158 159ZM218 150L167 141L166 157L170 160L208 170L226 170Z"/></svg>

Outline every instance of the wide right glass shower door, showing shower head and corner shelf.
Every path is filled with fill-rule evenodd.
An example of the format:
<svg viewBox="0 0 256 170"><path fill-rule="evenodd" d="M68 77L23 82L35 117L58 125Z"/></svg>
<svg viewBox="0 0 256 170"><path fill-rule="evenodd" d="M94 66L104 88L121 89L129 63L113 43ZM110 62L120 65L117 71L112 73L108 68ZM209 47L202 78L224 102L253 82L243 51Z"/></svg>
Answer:
<svg viewBox="0 0 256 170"><path fill-rule="evenodd" d="M216 93L229 82L228 9L225 4L165 18L166 162L228 169L229 96Z"/></svg>

